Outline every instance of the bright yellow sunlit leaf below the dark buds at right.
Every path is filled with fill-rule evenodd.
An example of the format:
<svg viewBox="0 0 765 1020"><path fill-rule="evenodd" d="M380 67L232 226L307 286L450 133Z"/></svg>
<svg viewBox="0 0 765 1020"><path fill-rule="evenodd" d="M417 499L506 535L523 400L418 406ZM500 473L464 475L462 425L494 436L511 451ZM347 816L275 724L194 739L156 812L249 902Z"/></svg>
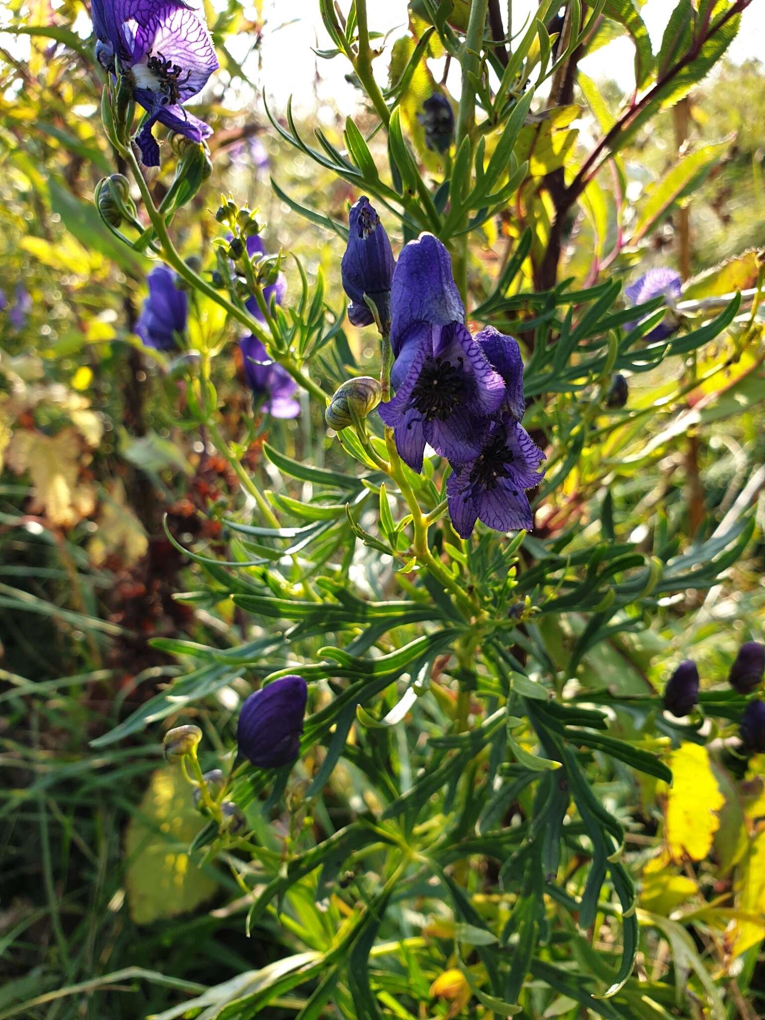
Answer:
<svg viewBox="0 0 765 1020"><path fill-rule="evenodd" d="M724 798L701 745L680 745L672 752L670 768L674 779L667 792L665 825L669 853L675 861L702 861L719 828L715 812Z"/></svg>

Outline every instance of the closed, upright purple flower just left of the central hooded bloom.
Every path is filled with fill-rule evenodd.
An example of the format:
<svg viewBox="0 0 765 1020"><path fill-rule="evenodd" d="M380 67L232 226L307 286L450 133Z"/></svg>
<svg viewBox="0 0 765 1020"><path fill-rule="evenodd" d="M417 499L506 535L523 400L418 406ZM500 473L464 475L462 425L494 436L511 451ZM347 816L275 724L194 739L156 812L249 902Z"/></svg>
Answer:
<svg viewBox="0 0 765 1020"><path fill-rule="evenodd" d="M367 294L374 302L387 332L395 265L391 242L379 216L365 196L351 207L348 224L348 247L340 265L343 290L351 299L348 318L354 325L371 325L374 316L364 301Z"/></svg>

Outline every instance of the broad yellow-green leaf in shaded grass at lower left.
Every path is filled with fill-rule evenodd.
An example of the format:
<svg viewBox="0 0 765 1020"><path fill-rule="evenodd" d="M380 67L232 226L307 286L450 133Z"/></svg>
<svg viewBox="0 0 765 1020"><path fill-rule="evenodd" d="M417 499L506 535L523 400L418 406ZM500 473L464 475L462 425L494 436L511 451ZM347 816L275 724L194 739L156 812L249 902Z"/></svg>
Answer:
<svg viewBox="0 0 765 1020"><path fill-rule="evenodd" d="M204 824L180 770L158 769L124 837L128 903L137 924L194 910L215 891L186 853Z"/></svg>

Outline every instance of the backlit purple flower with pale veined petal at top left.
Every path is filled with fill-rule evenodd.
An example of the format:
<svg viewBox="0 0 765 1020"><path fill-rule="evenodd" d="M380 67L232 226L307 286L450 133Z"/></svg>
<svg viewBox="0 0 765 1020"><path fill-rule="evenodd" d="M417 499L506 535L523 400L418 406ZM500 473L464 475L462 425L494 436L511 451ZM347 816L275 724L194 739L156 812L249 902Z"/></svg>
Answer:
<svg viewBox="0 0 765 1020"><path fill-rule="evenodd" d="M212 134L183 105L218 66L207 28L194 11L168 0L94 0L93 28L99 62L114 71L118 59L134 97L148 113L136 136L146 166L159 165L159 146L151 133L157 121L192 142Z"/></svg>

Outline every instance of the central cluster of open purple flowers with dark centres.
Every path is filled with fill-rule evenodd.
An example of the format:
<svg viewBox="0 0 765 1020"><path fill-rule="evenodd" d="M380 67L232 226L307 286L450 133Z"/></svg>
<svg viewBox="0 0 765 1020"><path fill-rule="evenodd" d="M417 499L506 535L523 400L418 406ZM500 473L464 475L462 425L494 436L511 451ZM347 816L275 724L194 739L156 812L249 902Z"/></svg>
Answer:
<svg viewBox="0 0 765 1020"><path fill-rule="evenodd" d="M545 455L520 424L517 342L492 326L470 335L449 253L430 234L402 250L391 311L396 395L378 410L402 460L421 471L425 446L449 460L449 513L463 539L476 520L498 531L530 528L525 490L542 479Z"/></svg>

